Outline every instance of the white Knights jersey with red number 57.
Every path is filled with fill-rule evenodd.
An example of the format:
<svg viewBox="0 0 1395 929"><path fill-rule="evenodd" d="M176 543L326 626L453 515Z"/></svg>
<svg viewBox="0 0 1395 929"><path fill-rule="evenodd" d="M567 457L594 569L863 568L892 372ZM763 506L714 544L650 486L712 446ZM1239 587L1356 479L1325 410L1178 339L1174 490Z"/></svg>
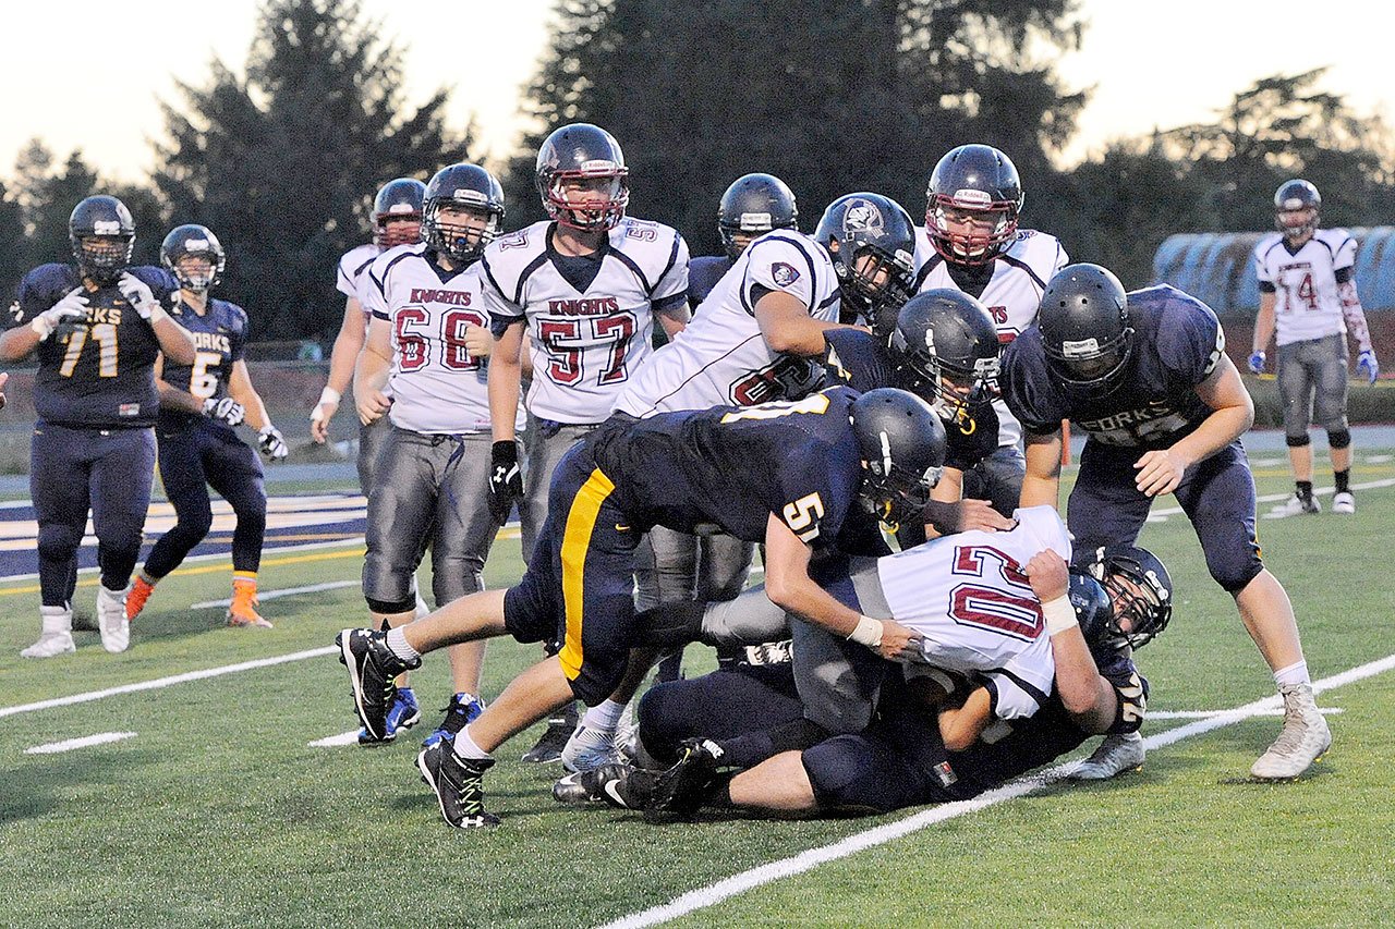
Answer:
<svg viewBox="0 0 1395 929"><path fill-rule="evenodd" d="M557 423L601 423L653 354L653 307L688 300L688 246L677 230L626 216L610 230L594 279L561 273L551 222L490 243L481 266L494 322L527 319L533 382L525 405Z"/></svg>

